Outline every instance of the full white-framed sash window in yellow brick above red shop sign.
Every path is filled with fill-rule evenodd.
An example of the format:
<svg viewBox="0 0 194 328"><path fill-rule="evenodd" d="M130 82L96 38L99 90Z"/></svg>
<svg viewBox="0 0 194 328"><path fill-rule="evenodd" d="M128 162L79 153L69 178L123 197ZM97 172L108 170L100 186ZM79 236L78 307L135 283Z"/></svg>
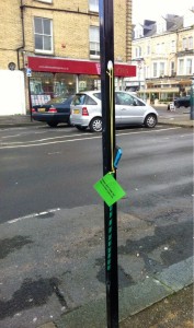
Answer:
<svg viewBox="0 0 194 328"><path fill-rule="evenodd" d="M53 26L52 20L34 17L35 50L38 52L53 52Z"/></svg>

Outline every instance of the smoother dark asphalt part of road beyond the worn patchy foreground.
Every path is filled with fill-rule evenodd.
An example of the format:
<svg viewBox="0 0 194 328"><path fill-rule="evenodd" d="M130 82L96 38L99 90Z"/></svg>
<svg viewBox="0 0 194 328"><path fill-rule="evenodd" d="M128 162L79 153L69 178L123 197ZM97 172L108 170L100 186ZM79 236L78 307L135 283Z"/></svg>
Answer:
<svg viewBox="0 0 194 328"><path fill-rule="evenodd" d="M101 203L102 140L76 129L0 131L1 222L54 208ZM191 215L192 131L178 127L117 130L117 179L125 212L145 220Z"/></svg>

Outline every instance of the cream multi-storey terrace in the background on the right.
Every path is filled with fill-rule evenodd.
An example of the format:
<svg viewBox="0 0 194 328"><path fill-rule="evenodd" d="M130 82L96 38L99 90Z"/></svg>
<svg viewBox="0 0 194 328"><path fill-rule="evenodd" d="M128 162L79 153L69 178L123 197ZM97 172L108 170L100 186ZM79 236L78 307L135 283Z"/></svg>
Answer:
<svg viewBox="0 0 194 328"><path fill-rule="evenodd" d="M191 92L194 75L194 10L183 16L168 14L134 27L133 62L137 77L127 89L149 102L168 103Z"/></svg>

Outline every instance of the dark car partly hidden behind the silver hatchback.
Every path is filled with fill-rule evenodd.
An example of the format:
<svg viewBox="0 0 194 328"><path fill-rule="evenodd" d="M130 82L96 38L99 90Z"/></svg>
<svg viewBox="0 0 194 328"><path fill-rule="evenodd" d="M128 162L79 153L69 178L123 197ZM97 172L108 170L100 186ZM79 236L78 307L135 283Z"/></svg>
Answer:
<svg viewBox="0 0 194 328"><path fill-rule="evenodd" d="M75 95L68 98L57 97L44 105L35 105L32 108L32 118L45 121L49 127L56 127L59 122L70 125L70 104Z"/></svg>

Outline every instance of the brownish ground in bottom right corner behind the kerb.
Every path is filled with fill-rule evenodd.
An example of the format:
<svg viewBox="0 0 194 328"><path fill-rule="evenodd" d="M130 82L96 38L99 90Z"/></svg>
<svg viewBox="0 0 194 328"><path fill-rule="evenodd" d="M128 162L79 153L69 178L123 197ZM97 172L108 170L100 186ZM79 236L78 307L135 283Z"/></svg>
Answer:
<svg viewBox="0 0 194 328"><path fill-rule="evenodd" d="M48 323L38 328L57 328ZM69 327L69 326L60 326ZM79 326L78 326L79 327ZM84 327L84 326L83 326ZM193 284L144 311L128 316L119 328L193 328ZM75 327L77 328L77 327Z"/></svg>

